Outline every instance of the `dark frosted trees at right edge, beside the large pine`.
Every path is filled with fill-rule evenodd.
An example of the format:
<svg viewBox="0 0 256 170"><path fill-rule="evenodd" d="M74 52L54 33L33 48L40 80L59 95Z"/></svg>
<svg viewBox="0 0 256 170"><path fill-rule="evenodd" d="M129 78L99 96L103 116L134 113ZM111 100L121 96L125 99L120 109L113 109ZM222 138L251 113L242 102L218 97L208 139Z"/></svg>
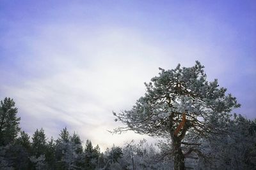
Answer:
<svg viewBox="0 0 256 170"><path fill-rule="evenodd" d="M212 165L202 164L203 168L238 170L256 167L256 119L248 120L234 114L228 130L227 134L205 141L205 153L214 159Z"/></svg>

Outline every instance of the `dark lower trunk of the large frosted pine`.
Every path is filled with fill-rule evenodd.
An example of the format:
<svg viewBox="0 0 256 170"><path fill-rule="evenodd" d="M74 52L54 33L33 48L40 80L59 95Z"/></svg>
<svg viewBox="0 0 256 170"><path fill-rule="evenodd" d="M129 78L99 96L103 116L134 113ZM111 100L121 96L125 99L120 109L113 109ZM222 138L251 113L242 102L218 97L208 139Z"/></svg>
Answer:
<svg viewBox="0 0 256 170"><path fill-rule="evenodd" d="M180 148L180 142L177 139L173 139L173 151L174 151L174 170L185 170L184 155Z"/></svg>

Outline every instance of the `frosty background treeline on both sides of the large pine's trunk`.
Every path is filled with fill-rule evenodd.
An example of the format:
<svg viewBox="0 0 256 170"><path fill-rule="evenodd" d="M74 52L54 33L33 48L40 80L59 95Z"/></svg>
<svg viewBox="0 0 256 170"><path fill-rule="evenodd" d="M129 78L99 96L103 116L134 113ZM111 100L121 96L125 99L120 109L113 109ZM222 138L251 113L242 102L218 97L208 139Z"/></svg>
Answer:
<svg viewBox="0 0 256 170"><path fill-rule="evenodd" d="M13 99L0 105L0 169L172 169L173 155L168 139L156 148L145 139L100 152L87 139L85 146L67 127L59 138L47 140L44 129L30 136L20 130L20 118ZM256 120L234 115L227 122L228 132L208 139L198 139L200 157L188 157L190 169L253 169L256 167ZM216 127L218 128L218 127ZM99 136L100 138L100 136ZM189 140L189 136L188 136ZM191 141L193 142L193 141Z"/></svg>

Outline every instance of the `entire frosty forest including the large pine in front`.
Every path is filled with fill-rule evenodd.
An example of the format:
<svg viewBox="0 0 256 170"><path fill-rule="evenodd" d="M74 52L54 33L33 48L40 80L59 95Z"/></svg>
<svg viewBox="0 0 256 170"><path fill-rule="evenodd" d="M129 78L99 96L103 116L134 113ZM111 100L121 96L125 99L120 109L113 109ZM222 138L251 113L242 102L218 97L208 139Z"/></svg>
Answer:
<svg viewBox="0 0 256 170"><path fill-rule="evenodd" d="M40 127L29 136L20 128L15 101L5 97L0 106L0 169L255 169L256 119L232 113L240 107L236 97L225 94L218 80L206 81L200 62L160 68L145 86L145 96L131 110L113 112L115 121L125 126L111 133L134 131L159 142L131 139L104 152L67 127L57 139Z"/></svg>

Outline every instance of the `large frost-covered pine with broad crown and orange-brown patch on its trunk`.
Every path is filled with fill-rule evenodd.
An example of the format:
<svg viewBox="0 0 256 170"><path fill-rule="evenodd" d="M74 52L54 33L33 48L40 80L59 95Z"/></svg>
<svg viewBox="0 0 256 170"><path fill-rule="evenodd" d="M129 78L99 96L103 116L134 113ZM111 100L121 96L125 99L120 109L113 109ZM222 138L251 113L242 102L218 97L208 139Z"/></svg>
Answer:
<svg viewBox="0 0 256 170"><path fill-rule="evenodd" d="M203 68L198 61L193 67L179 64L175 69L159 68L161 73L145 83L145 96L131 110L113 112L116 121L126 125L114 132L131 130L171 139L174 169L185 169L185 157L201 154L193 147L200 143L188 143L184 137L191 134L193 138L202 138L220 133L219 123L228 120L230 111L240 106L236 97L225 94L227 89L220 88L217 80L206 80Z"/></svg>

